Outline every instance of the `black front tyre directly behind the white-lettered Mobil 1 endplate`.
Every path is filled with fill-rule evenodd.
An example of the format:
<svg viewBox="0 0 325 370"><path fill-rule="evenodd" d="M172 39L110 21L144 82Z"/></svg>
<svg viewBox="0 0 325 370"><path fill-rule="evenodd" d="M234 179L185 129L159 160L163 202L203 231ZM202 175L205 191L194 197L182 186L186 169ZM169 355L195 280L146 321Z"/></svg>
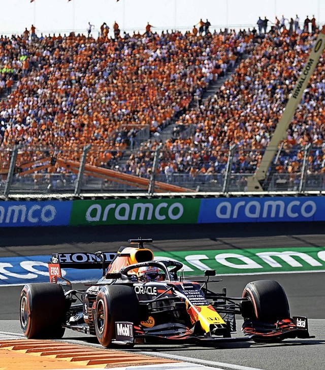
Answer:
<svg viewBox="0 0 325 370"><path fill-rule="evenodd" d="M111 347L115 339L115 322L140 323L140 305L133 288L123 285L103 287L96 297L94 325L98 341L103 347ZM128 345L132 347L132 345Z"/></svg>

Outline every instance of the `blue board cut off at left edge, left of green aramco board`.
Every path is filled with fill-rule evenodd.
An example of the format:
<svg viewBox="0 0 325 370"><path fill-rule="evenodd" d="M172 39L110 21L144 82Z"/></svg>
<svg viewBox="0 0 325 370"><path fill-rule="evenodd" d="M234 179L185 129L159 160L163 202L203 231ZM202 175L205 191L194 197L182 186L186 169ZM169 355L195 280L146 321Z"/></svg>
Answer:
<svg viewBox="0 0 325 370"><path fill-rule="evenodd" d="M0 227L69 225L72 201L0 201Z"/></svg>

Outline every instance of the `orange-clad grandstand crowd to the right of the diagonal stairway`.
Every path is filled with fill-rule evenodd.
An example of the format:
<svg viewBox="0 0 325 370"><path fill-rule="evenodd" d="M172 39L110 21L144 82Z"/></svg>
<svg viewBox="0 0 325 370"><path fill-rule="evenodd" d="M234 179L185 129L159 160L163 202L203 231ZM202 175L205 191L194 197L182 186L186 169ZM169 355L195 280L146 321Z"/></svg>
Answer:
<svg viewBox="0 0 325 370"><path fill-rule="evenodd" d="M179 125L193 125L195 131L190 138L166 141L159 171L164 173L164 167L171 164L174 173L224 173L229 150L236 145L232 172L253 173L316 36L308 33L289 36L284 30L280 36L270 33L263 39L254 39L251 55L220 90L200 107L185 110L178 119ZM277 172L301 172L304 147L311 143L308 172L325 173L324 98L322 55L287 131L276 163ZM146 151L144 145L131 161L139 163L141 159L141 163Z"/></svg>

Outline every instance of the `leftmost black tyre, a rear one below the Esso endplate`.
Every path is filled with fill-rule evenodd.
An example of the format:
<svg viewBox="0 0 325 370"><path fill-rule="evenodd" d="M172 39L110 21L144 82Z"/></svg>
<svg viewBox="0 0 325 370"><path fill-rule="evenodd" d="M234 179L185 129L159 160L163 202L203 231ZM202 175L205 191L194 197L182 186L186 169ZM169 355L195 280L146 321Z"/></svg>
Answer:
<svg viewBox="0 0 325 370"><path fill-rule="evenodd" d="M19 300L20 327L28 339L59 339L66 321L66 297L58 284L27 284Z"/></svg>

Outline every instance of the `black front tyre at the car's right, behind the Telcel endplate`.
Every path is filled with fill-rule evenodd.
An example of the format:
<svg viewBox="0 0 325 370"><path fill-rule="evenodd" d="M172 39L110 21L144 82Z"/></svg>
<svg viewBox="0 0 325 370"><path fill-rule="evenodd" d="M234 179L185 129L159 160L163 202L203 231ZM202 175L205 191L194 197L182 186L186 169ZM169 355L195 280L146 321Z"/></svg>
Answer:
<svg viewBox="0 0 325 370"><path fill-rule="evenodd" d="M251 304L243 305L245 319L275 323L290 317L289 304L282 286L274 280L257 280L248 283L243 291ZM245 302L243 302L245 303Z"/></svg>

